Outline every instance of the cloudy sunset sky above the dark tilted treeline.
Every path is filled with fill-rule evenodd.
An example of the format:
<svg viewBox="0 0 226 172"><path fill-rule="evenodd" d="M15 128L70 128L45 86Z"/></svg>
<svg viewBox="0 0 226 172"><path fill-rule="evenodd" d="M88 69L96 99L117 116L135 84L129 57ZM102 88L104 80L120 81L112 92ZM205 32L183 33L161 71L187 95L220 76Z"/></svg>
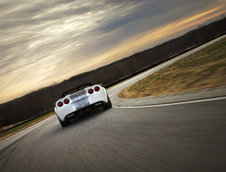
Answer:
<svg viewBox="0 0 226 172"><path fill-rule="evenodd" d="M151 48L225 11L226 0L1 0L0 103Z"/></svg>

